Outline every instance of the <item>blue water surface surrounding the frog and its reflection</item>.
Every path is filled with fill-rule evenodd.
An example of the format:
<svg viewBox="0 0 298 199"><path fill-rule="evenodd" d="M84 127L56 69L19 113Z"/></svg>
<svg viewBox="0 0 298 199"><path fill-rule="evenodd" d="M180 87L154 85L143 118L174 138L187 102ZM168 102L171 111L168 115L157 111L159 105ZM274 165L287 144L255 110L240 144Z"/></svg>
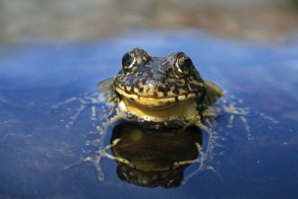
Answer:
<svg viewBox="0 0 298 199"><path fill-rule="evenodd" d="M210 160L216 173L202 171L172 189L145 188L119 179L113 160L102 161L104 182L98 181L92 164L76 165L100 121L92 121L86 109L66 128L79 102L58 109L52 106L96 93L98 81L115 75L123 53L135 46L159 56L186 52L204 78L217 82L229 100L235 96L250 109L250 135L239 117L232 128L227 128L230 115L217 118L221 147L215 148ZM200 31L148 30L94 43L3 48L0 198L296 198L297 52L297 37L282 44L244 43ZM262 117L263 113L279 123ZM202 134L204 146L206 133ZM185 168L185 175L195 165Z"/></svg>

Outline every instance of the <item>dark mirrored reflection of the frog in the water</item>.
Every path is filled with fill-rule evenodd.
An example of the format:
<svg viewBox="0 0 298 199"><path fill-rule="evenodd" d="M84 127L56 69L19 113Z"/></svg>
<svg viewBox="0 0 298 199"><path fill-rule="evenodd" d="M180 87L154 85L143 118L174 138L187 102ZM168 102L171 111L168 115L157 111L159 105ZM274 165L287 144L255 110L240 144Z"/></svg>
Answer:
<svg viewBox="0 0 298 199"><path fill-rule="evenodd" d="M185 182L184 169L199 161L201 142L200 128L153 129L128 122L113 129L110 141L120 179L133 185L165 188ZM194 173L185 180L191 175Z"/></svg>

